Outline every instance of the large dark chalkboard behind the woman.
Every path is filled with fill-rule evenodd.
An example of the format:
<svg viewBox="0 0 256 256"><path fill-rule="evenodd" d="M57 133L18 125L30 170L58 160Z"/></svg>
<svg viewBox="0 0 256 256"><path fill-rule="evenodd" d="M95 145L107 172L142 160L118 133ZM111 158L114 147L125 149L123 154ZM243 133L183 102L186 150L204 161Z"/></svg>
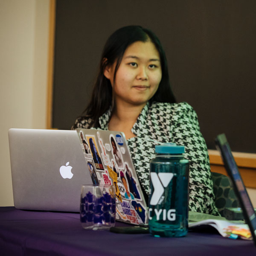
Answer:
<svg viewBox="0 0 256 256"><path fill-rule="evenodd" d="M57 0L52 127L70 129L84 110L108 36L140 24L160 38L208 148L224 132L233 151L256 153L255 17L255 0Z"/></svg>

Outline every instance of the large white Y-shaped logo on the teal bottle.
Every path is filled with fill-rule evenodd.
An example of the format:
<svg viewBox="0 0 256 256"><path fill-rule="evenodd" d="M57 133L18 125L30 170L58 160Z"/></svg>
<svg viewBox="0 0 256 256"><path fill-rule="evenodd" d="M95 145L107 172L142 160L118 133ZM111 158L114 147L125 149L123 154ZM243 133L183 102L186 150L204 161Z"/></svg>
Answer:
<svg viewBox="0 0 256 256"><path fill-rule="evenodd" d="M156 172L150 173L150 178L154 187L154 192L149 204L157 205L161 196L163 195L164 188L166 188L169 185L170 181L172 180L172 177L173 173L171 172L160 172L158 173L158 175Z"/></svg>

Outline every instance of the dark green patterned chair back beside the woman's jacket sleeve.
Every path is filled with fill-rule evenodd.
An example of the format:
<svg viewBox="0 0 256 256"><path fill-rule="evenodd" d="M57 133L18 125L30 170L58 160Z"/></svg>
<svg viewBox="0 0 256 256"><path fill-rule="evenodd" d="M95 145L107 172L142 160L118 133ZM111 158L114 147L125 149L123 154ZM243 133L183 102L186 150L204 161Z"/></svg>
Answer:
<svg viewBox="0 0 256 256"><path fill-rule="evenodd" d="M227 207L239 207L231 180L226 175L211 172L213 181L213 193L215 195L215 205L221 216L224 216L224 209Z"/></svg>

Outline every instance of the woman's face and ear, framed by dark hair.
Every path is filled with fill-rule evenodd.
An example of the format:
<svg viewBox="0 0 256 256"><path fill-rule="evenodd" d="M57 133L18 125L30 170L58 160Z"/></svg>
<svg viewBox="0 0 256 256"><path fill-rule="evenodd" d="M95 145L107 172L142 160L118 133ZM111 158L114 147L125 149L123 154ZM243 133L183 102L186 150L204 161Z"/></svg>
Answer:
<svg viewBox="0 0 256 256"><path fill-rule="evenodd" d="M115 103L145 105L162 79L160 55L150 41L137 41L125 50L113 82L116 62L105 69L104 75L111 81Z"/></svg>

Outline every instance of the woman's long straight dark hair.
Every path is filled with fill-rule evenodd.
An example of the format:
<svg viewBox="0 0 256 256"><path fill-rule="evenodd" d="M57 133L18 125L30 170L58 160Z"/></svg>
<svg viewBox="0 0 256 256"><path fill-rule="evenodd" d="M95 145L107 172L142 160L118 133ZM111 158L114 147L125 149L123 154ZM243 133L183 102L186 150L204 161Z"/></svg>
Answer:
<svg viewBox="0 0 256 256"><path fill-rule="evenodd" d="M166 55L157 36L149 29L141 26L125 26L116 30L107 40L102 52L101 62L99 66L99 74L93 87L93 94L90 103L83 112L83 116L92 120L90 126L98 125L98 119L105 113L112 103L112 87L111 82L104 76L104 70L108 65L113 65L116 61L114 71L114 80L116 71L122 61L124 52L128 46L137 41L151 41L157 48L162 68L162 79L154 96L149 102L169 102L175 103L175 96L169 82L169 74L167 67Z"/></svg>

